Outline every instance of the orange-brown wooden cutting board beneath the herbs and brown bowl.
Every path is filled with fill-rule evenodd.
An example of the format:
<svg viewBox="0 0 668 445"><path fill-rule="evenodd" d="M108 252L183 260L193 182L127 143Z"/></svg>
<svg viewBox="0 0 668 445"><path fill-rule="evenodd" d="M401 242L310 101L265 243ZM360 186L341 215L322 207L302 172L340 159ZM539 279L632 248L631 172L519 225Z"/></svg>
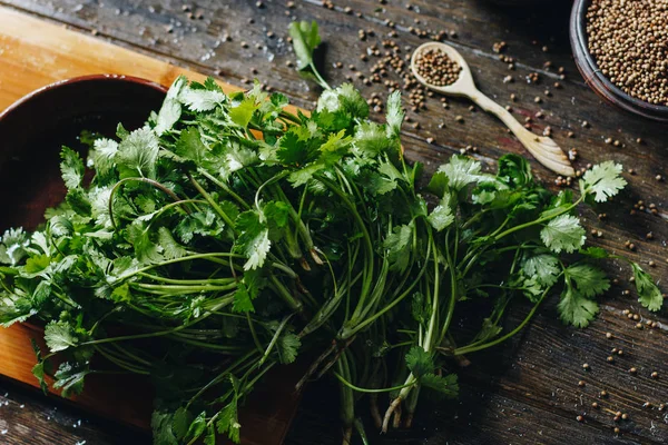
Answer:
<svg viewBox="0 0 668 445"><path fill-rule="evenodd" d="M205 79L197 72L0 8L0 111L46 85L92 73L135 76L165 86L179 75ZM219 83L225 92L239 90L224 81ZM0 375L38 386L31 373L36 358L30 338L41 339L41 330L28 325L0 328ZM253 393L240 416L244 444L283 442L298 404L298 395L292 390L298 374L295 368L283 367ZM148 387L137 378L91 378L75 403L124 424L148 428L153 402Z"/></svg>

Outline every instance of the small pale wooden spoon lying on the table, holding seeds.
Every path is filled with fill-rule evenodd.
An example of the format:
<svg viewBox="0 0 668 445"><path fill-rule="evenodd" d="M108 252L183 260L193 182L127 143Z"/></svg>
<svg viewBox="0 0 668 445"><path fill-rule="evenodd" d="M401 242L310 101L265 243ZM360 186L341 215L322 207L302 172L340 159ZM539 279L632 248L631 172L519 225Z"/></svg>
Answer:
<svg viewBox="0 0 668 445"><path fill-rule="evenodd" d="M450 59L458 62L462 68L459 73L459 78L454 81L454 83L444 87L431 85L426 81L426 79L418 73L415 66L418 56L422 51L430 49L445 52ZM426 88L444 95L468 97L487 112L491 112L492 115L497 116L503 121L503 123L505 123L508 128L510 128L510 130L514 134L514 136L517 136L527 150L529 150L529 152L533 155L533 157L540 164L550 170L562 176L576 176L576 171L568 160L568 157L552 139L543 136L537 136L527 130L520 122L518 122L515 118L512 117L510 112L508 112L508 110L505 110L505 108L501 107L499 103L494 102L492 99L480 92L478 88L475 88L469 65L464 58L450 44L440 42L421 44L415 52L413 52L413 57L411 58L411 70L420 83L424 85Z"/></svg>

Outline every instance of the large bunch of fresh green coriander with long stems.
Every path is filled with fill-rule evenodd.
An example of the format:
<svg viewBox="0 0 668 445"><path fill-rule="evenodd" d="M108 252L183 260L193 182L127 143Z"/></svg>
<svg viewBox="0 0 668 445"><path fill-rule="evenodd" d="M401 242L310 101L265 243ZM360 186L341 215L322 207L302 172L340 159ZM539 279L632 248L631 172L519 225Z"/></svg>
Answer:
<svg viewBox="0 0 668 445"><path fill-rule="evenodd" d="M344 442L353 428L366 442L355 408L383 431L410 425L424 393L456 396L453 358L510 338L552 294L584 327L609 288L596 264L612 255L583 247L577 208L617 195L621 166L588 170L576 198L543 188L521 157L491 175L453 156L419 190L399 92L386 122L370 121L355 88L317 75L315 23L291 33L325 89L310 116L257 85L225 95L179 78L145 127L95 140L89 184L63 148L65 202L39 230L1 238L0 323L46 324L41 385L51 375L67 396L94 373L149 376L158 445L238 442L246 395L297 356L312 360L299 385L341 384ZM630 265L658 310L659 289ZM514 299L531 308L504 329ZM452 327L466 307L488 310L475 335Z"/></svg>

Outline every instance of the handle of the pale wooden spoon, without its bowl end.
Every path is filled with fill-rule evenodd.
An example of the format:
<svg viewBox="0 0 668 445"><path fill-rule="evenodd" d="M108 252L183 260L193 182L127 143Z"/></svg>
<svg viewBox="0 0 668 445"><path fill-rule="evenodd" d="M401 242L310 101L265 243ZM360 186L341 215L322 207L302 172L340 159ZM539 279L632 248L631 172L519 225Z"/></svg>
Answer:
<svg viewBox="0 0 668 445"><path fill-rule="evenodd" d="M501 119L540 164L559 175L574 176L576 171L571 167L568 157L552 139L537 136L527 130L505 108L501 107L479 90L471 93L470 98L480 108Z"/></svg>

